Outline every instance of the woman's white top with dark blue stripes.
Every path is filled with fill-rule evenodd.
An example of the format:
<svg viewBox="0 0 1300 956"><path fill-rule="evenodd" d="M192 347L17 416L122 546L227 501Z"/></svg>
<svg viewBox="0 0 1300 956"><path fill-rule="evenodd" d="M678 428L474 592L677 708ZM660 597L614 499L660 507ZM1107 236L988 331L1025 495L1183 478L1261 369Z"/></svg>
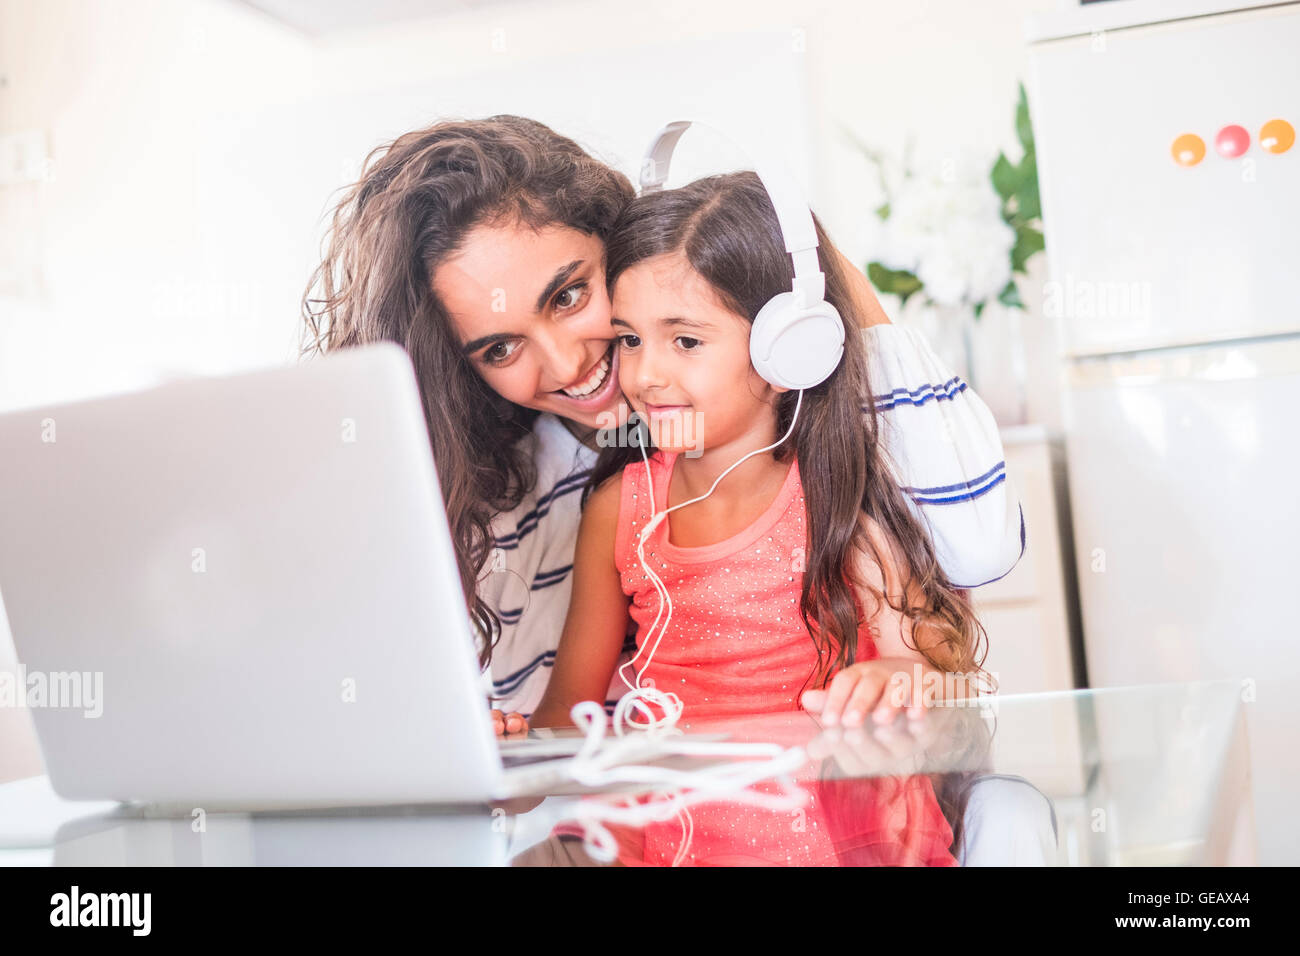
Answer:
<svg viewBox="0 0 1300 956"><path fill-rule="evenodd" d="M988 407L952 375L913 329L863 332L881 444L898 485L931 529L940 564L958 587L1006 575L1024 553L1024 518L1006 475L1002 441ZM541 701L572 591L578 505L595 462L552 415L532 444L534 492L493 523L498 551L480 575L480 594L498 610L493 706L530 714ZM624 653L634 648L630 637ZM615 675L607 705L624 692Z"/></svg>

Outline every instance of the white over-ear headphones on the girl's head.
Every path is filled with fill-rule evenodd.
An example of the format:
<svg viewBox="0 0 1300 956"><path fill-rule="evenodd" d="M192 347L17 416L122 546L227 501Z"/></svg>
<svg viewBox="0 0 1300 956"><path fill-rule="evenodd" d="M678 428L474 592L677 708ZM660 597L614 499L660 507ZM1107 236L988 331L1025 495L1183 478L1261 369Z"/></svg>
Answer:
<svg viewBox="0 0 1300 956"><path fill-rule="evenodd" d="M663 189L672 151L690 126L705 124L679 120L659 130L641 163L642 194ZM826 300L826 276L816 258L812 212L800 195L798 185L780 164L759 163L753 152L749 155L755 160L754 172L776 209L785 251L794 261L790 291L768 299L754 316L749 358L754 371L772 385L792 390L811 389L829 378L840 364L844 321L835 306Z"/></svg>

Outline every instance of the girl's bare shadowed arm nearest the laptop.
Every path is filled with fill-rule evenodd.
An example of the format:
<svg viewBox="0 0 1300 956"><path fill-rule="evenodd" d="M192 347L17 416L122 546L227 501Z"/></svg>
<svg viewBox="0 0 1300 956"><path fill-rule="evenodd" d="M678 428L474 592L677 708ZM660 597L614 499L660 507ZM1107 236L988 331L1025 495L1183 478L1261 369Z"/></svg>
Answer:
<svg viewBox="0 0 1300 956"><path fill-rule="evenodd" d="M628 632L628 596L614 563L621 477L601 485L586 502L573 553L573 596L564 632L555 650L555 667L546 693L533 711L533 727L572 723L578 701L603 705Z"/></svg>

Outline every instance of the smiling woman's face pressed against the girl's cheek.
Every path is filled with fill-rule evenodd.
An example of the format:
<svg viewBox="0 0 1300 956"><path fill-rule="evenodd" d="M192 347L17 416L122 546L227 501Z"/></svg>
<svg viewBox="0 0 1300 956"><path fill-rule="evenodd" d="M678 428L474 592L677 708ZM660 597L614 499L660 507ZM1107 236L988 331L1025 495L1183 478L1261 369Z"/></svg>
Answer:
<svg viewBox="0 0 1300 956"><path fill-rule="evenodd" d="M478 226L434 272L433 291L494 392L589 428L610 424L621 395L599 238Z"/></svg>

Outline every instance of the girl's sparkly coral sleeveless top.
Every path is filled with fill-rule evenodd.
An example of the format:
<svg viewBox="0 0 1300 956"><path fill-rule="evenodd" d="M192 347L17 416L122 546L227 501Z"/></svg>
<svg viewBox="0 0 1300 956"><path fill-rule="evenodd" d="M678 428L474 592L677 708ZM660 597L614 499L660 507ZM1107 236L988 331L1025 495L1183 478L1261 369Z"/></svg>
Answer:
<svg viewBox="0 0 1300 956"><path fill-rule="evenodd" d="M667 507L676 459L662 451L650 458L656 511ZM614 558L638 645L659 611L636 550L651 514L645 463L634 462L623 470ZM800 615L807 529L798 462L763 514L725 541L679 548L668 541L670 523L681 520L690 520L689 507L662 520L645 545L646 563L672 596L672 622L642 684L676 693L688 721L798 709L818 663ZM878 656L866 624L857 650L858 661Z"/></svg>

